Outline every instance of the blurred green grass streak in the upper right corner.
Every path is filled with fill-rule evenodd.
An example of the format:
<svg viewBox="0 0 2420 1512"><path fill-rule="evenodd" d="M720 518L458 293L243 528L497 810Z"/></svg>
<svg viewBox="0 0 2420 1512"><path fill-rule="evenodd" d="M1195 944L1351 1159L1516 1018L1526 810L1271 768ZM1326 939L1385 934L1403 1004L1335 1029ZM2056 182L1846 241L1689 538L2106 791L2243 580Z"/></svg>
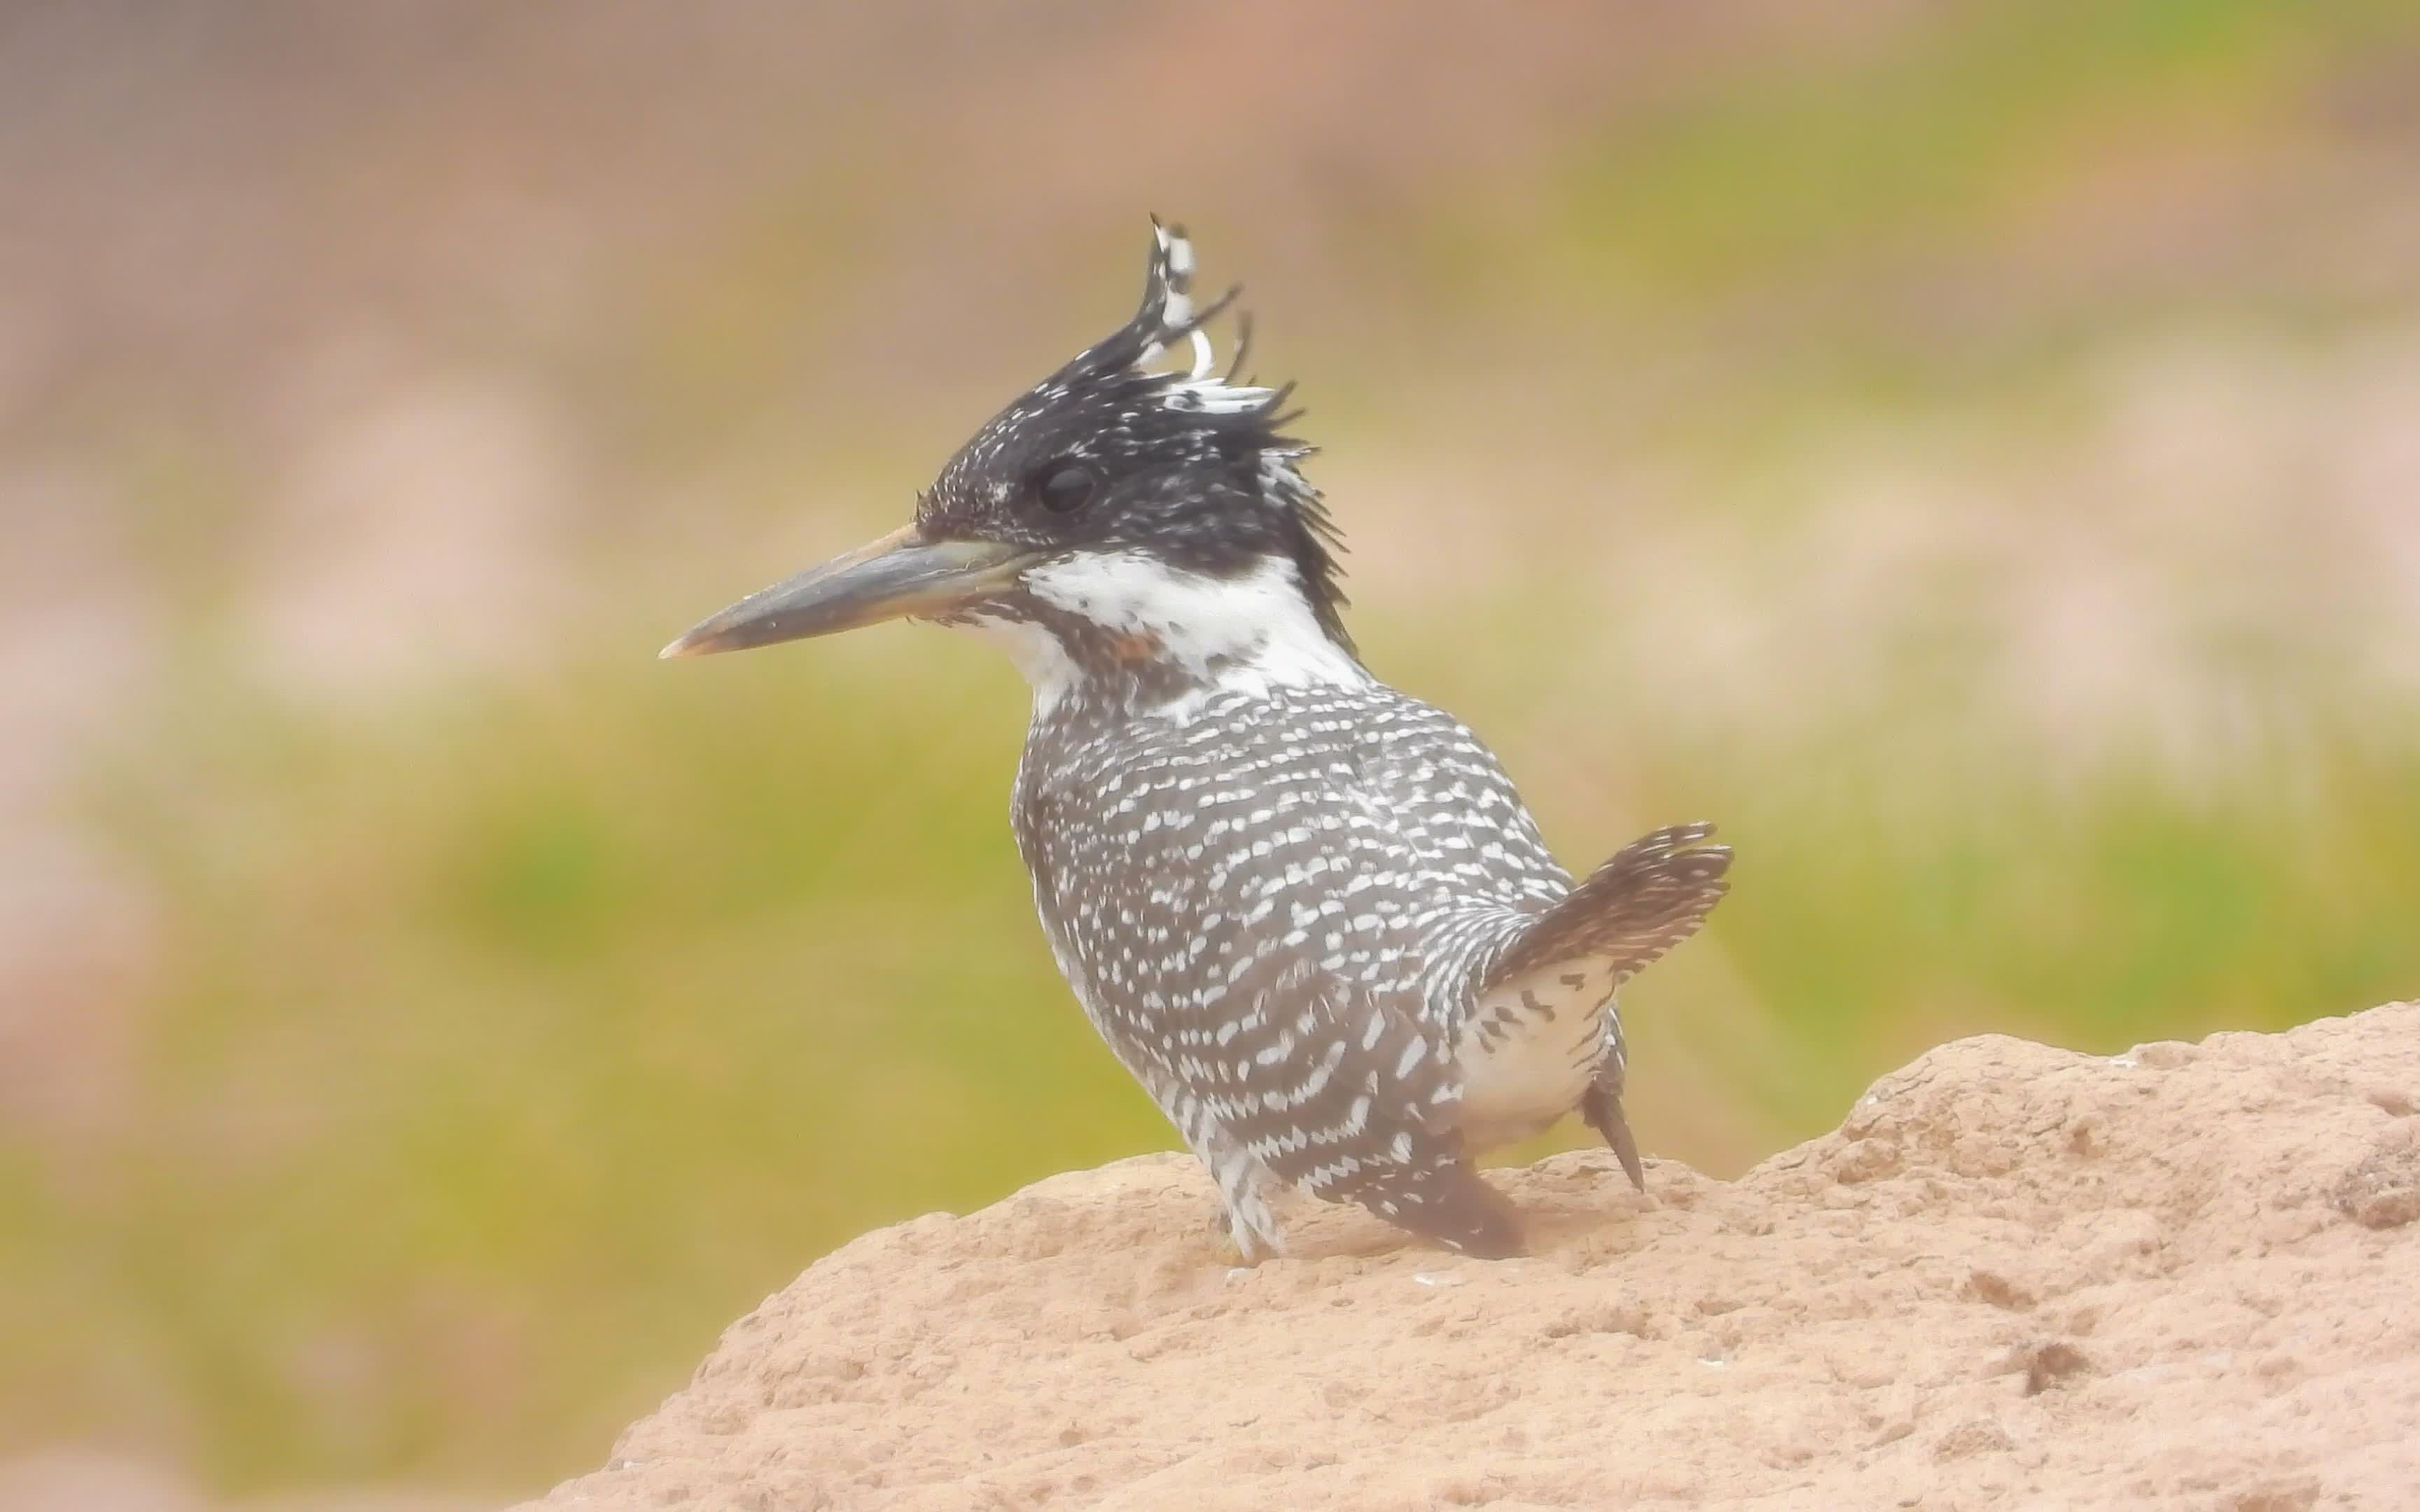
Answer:
<svg viewBox="0 0 2420 1512"><path fill-rule="evenodd" d="M1856 63L1774 58L1658 111L1580 157L1571 235L1542 249L1665 298L1871 266L1905 237L1994 230L2079 162L2255 135L2396 22L2372 0L1963 7Z"/></svg>

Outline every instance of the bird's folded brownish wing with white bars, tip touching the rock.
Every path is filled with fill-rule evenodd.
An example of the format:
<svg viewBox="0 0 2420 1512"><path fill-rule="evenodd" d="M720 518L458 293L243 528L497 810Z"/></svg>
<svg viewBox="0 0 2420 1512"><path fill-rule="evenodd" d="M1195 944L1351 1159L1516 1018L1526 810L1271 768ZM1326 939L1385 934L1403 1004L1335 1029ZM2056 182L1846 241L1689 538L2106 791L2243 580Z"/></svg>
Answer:
<svg viewBox="0 0 2420 1512"><path fill-rule="evenodd" d="M1270 1176L1474 1256L1522 1251L1512 1207L1462 1156L1442 1033L1283 951L1256 956L1217 1016L1234 1055L1179 1055L1174 1072Z"/></svg>

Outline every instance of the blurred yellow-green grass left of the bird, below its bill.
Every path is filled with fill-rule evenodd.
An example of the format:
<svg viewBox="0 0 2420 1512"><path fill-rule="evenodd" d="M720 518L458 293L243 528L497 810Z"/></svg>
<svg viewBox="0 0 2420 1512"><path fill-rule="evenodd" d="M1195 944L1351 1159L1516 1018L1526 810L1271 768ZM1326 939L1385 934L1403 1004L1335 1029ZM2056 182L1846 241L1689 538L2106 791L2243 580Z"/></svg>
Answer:
<svg viewBox="0 0 2420 1512"><path fill-rule="evenodd" d="M177 721L116 784L179 919L148 1127L36 1207L102 1268L27 1323L186 1374L240 1483L569 1461L832 1241L1154 1139L1024 917L1009 685L634 646L411 728Z"/></svg>

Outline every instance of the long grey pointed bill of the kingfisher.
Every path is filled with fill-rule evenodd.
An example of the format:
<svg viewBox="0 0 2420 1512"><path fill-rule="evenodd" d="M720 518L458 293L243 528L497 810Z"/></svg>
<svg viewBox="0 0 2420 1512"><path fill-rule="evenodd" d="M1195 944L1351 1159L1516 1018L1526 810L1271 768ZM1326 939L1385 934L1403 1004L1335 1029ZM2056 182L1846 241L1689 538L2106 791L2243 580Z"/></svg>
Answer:
<svg viewBox="0 0 2420 1512"><path fill-rule="evenodd" d="M786 583L750 593L661 656L745 651L903 614L946 614L1004 588L1033 556L999 542L927 542L908 525Z"/></svg>

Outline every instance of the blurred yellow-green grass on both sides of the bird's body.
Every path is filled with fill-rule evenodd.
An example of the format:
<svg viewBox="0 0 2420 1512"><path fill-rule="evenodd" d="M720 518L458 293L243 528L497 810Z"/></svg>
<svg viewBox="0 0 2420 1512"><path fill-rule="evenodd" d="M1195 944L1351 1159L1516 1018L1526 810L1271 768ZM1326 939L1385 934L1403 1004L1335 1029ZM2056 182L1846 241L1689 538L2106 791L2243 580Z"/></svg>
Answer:
<svg viewBox="0 0 2420 1512"><path fill-rule="evenodd" d="M1696 815L1740 847L1711 934L1634 989L1660 1154L1735 1171L1948 1033L2113 1050L2420 970L2420 740L2185 796L1975 760L1924 709L1522 733L1452 622L1367 639L1512 726L1568 861ZM1554 644L1488 660L1522 653ZM196 697L102 791L177 939L143 1123L75 1183L0 1171L12 1258L80 1256L7 1304L10 1391L63 1425L157 1403L235 1483L508 1481L593 1459L859 1229L1171 1147L1036 936L1019 723L932 631L341 731Z"/></svg>

